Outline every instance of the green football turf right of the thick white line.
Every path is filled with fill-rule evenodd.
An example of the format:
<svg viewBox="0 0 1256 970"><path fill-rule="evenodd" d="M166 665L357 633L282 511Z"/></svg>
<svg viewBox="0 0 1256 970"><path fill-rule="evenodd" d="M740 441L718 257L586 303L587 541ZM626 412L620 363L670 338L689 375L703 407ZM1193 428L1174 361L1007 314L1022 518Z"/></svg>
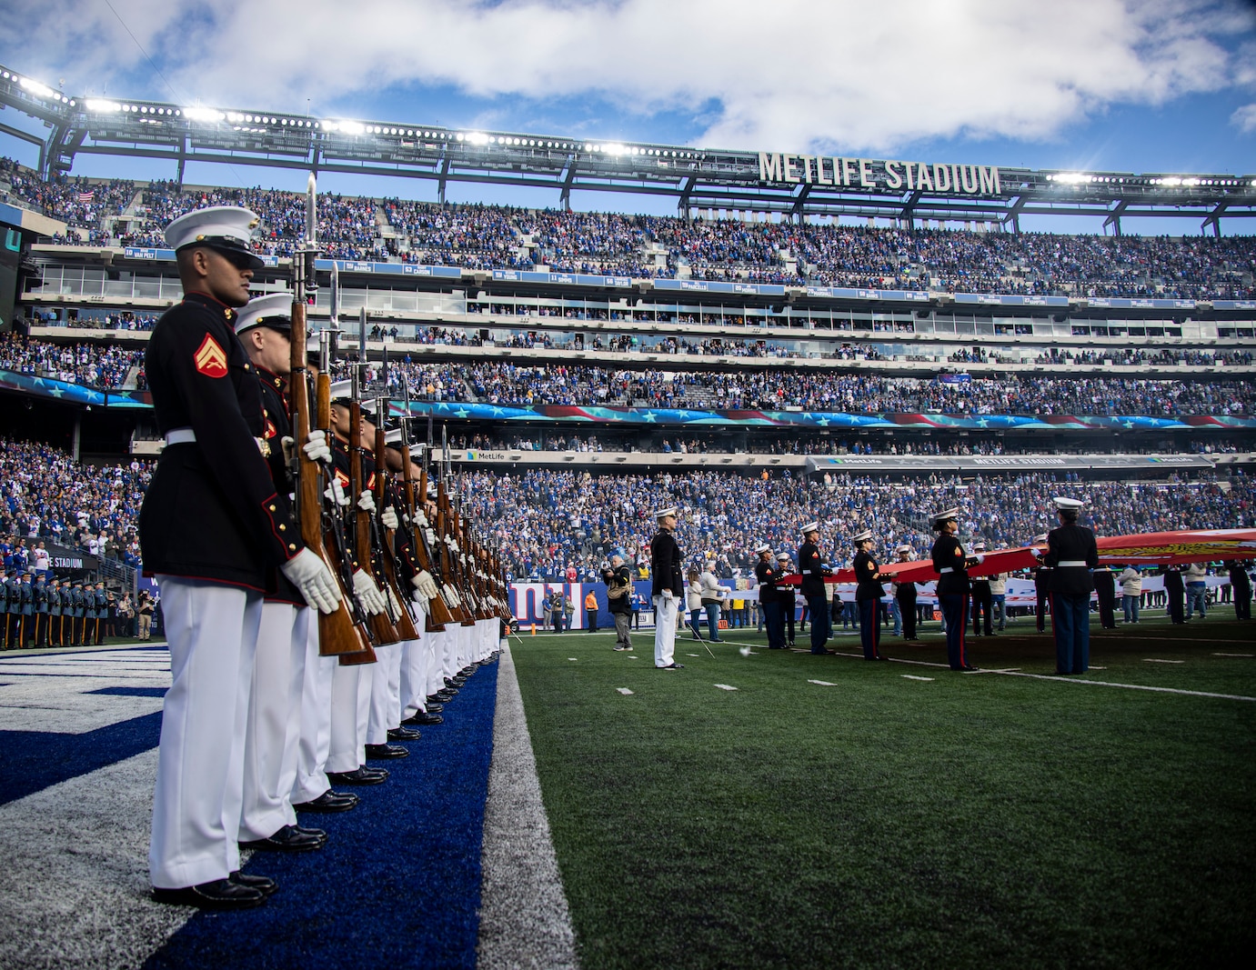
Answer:
<svg viewBox="0 0 1256 970"><path fill-rule="evenodd" d="M916 664L514 640L583 966L1248 965L1256 658L1218 654L1256 627L1227 612L1095 622L1081 678L991 671L1054 671L1025 619L977 674L937 624L884 636Z"/></svg>

